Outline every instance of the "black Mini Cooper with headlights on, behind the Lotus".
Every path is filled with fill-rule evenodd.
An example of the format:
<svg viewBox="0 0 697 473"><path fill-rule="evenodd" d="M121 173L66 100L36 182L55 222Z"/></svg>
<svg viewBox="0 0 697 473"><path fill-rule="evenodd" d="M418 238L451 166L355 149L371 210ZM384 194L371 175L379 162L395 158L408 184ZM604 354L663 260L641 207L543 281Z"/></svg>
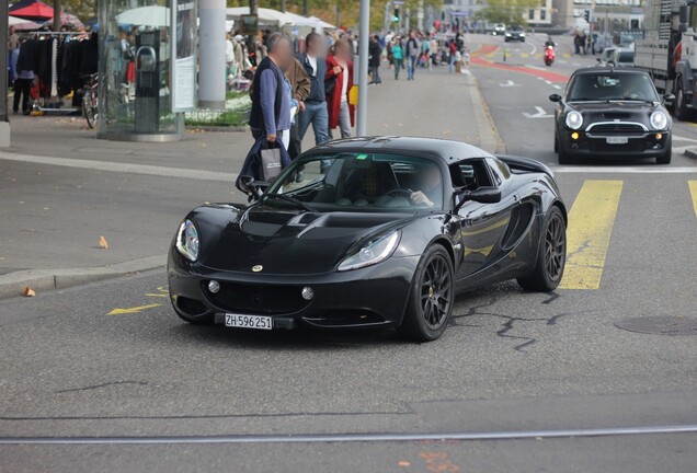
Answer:
<svg viewBox="0 0 697 473"><path fill-rule="evenodd" d="M560 164L579 158L655 158L671 162L672 119L647 72L579 69L555 111L555 151Z"/></svg>

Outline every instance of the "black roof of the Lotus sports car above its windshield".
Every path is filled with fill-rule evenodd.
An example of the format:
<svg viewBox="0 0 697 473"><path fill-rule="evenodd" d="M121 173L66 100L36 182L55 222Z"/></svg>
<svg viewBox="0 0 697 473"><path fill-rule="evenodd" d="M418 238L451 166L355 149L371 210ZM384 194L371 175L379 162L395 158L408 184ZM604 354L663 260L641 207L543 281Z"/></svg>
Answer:
<svg viewBox="0 0 697 473"><path fill-rule="evenodd" d="M443 160L461 160L468 158L491 157L487 151L461 141L421 137L359 137L329 141L312 148L309 153L321 152L403 152L404 154L420 154L437 157Z"/></svg>

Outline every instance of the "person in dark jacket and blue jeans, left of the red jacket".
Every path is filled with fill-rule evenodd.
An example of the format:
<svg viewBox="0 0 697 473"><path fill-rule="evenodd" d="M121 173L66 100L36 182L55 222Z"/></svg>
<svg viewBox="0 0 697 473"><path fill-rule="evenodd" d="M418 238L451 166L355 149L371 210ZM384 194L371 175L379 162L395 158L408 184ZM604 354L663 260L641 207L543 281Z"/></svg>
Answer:
<svg viewBox="0 0 697 473"><path fill-rule="evenodd" d="M324 41L318 33L310 33L305 38L305 47L306 50L298 60L310 79L310 93L305 100L305 111L298 118L298 138L301 141L312 124L315 143L321 145L329 139L329 112L324 91L327 77Z"/></svg>

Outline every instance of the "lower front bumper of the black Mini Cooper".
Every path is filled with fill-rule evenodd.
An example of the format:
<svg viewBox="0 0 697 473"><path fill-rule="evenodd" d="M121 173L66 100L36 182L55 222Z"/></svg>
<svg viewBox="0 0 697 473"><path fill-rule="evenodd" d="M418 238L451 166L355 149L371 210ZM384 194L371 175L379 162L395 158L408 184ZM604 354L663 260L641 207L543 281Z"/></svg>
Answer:
<svg viewBox="0 0 697 473"><path fill-rule="evenodd" d="M578 134L576 139L572 138L574 132ZM628 136L627 143L622 145L608 143L608 138L616 137L564 129L560 131L559 143L568 154L575 158L659 158L671 146L670 131Z"/></svg>

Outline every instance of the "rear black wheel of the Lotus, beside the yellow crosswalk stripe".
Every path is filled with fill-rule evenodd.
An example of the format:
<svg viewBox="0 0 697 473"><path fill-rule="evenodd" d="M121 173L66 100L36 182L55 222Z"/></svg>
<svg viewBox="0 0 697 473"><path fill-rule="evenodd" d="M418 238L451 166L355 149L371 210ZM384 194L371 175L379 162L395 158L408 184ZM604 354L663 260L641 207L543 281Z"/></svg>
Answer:
<svg viewBox="0 0 697 473"><path fill-rule="evenodd" d="M518 278L521 287L528 291L549 292L557 289L567 264L567 224L559 207L547 212L533 274Z"/></svg>

